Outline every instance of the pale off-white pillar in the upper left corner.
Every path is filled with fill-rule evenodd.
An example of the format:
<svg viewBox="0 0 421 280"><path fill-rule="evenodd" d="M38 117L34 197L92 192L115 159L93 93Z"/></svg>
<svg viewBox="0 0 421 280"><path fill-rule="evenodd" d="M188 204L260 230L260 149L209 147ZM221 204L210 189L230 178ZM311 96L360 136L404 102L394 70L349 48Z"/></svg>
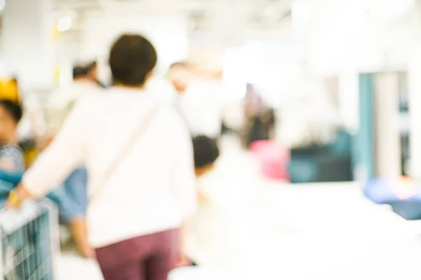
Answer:
<svg viewBox="0 0 421 280"><path fill-rule="evenodd" d="M1 57L4 74L17 74L26 87L53 83L50 0L7 1L2 17Z"/></svg>

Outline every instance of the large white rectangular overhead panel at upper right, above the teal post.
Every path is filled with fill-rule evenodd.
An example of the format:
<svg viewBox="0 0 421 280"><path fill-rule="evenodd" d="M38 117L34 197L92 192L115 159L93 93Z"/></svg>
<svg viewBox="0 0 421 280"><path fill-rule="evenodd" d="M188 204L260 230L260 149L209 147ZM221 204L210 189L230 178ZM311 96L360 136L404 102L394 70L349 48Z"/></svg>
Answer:
<svg viewBox="0 0 421 280"><path fill-rule="evenodd" d="M405 66L417 36L416 15L403 10L391 18L387 16L390 12L382 9L384 5L377 0L314 1L308 31L312 71L338 73L344 66L378 71Z"/></svg>

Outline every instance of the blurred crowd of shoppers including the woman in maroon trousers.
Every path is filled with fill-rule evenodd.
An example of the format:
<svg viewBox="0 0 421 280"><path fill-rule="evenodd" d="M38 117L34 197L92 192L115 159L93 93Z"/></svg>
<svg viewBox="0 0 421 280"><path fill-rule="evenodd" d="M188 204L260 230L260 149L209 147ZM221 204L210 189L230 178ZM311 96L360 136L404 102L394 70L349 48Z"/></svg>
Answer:
<svg viewBox="0 0 421 280"><path fill-rule="evenodd" d="M55 201L79 252L98 260L105 279L163 280L175 265L200 265L185 231L194 234L197 204L208 203L196 179L212 172L218 139L234 133L248 148L276 137L276 110L253 84L238 130L223 120L222 88L189 62L168 69L171 101L156 98L156 62L146 38L122 35L109 52L112 84L100 82L96 62L74 66L72 85L47 99L44 134L29 144L16 137L29 115L18 80L0 87L0 169L22 177L6 203ZM34 162L25 158L36 149Z"/></svg>

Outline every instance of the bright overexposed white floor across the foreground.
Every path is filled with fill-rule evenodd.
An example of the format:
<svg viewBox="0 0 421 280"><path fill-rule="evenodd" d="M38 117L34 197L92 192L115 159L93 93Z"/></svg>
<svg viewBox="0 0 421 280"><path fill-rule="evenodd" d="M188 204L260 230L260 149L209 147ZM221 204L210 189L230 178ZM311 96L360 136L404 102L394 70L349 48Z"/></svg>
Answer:
<svg viewBox="0 0 421 280"><path fill-rule="evenodd" d="M229 253L214 254L206 267L179 269L171 280L420 279L421 223L371 204L359 183L274 183L232 140L223 148L214 195L229 217L216 223L232 235L220 235ZM75 273L102 279L95 262L72 254L59 258L58 273L59 280Z"/></svg>

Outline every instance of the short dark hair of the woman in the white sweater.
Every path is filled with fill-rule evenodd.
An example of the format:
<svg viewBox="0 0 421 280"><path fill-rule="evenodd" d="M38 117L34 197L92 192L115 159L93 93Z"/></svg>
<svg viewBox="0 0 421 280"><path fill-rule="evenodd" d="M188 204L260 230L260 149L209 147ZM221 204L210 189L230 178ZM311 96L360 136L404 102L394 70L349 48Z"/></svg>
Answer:
<svg viewBox="0 0 421 280"><path fill-rule="evenodd" d="M139 86L156 65L156 50L145 37L124 34L112 45L109 66L114 83Z"/></svg>

